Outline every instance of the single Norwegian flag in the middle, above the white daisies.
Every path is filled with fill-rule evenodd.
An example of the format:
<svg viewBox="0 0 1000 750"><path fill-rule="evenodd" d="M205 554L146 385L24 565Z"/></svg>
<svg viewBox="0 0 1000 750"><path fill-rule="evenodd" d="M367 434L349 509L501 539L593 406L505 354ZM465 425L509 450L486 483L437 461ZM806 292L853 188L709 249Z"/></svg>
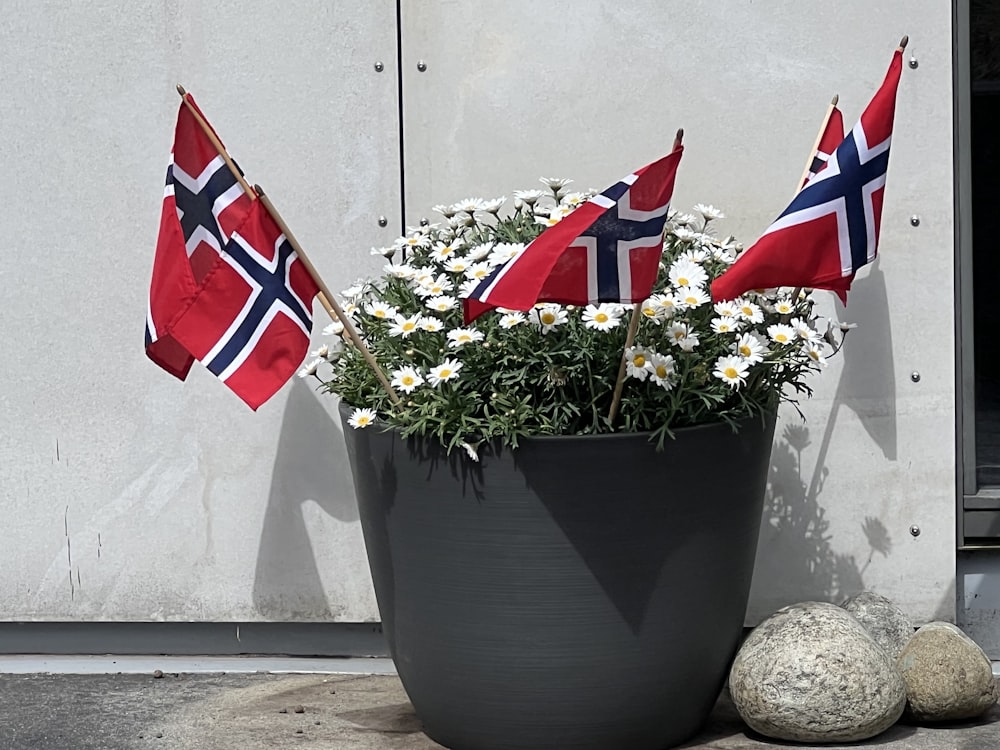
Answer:
<svg viewBox="0 0 1000 750"><path fill-rule="evenodd" d="M663 224L674 191L679 141L536 237L463 300L465 322L487 310L538 302L641 302L656 282Z"/></svg>

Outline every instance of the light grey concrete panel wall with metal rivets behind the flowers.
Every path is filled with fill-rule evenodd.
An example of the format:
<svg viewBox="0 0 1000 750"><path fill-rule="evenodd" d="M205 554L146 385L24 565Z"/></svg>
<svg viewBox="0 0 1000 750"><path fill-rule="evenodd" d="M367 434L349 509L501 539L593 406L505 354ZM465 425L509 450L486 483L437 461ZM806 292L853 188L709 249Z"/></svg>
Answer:
<svg viewBox="0 0 1000 750"><path fill-rule="evenodd" d="M749 619L863 587L953 618L950 4L401 11L405 189L395 3L5 11L0 619L377 619L332 401L294 379L254 414L143 354L176 83L336 290L377 269L368 250L403 206L415 224L543 175L603 188L678 127L675 206L713 203L749 243L785 207L830 97L853 124L903 34L919 67L899 89L881 257L847 311L824 297L859 327L806 421L782 414Z"/></svg>

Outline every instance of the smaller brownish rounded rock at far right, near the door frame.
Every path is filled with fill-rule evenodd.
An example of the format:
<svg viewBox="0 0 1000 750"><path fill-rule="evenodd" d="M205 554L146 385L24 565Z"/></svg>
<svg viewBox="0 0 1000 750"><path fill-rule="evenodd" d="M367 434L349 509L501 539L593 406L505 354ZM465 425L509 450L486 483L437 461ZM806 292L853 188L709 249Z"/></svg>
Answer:
<svg viewBox="0 0 1000 750"><path fill-rule="evenodd" d="M896 665L906 684L907 716L918 722L972 719L997 702L989 657L949 622L917 630Z"/></svg>

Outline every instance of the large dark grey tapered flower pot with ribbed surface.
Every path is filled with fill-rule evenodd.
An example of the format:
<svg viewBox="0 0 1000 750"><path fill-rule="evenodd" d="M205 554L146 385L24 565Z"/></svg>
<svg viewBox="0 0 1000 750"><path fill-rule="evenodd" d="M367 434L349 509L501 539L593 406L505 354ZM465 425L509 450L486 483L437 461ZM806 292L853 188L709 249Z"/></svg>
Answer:
<svg viewBox="0 0 1000 750"><path fill-rule="evenodd" d="M346 412L342 409L342 415ZM545 437L481 461L345 437L390 653L455 750L662 750L739 645L774 418Z"/></svg>

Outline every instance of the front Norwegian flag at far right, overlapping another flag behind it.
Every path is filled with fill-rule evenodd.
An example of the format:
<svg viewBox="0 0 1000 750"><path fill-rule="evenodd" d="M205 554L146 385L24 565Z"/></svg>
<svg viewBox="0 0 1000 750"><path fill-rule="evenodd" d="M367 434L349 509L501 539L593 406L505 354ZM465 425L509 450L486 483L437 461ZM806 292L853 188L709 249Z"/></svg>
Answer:
<svg viewBox="0 0 1000 750"><path fill-rule="evenodd" d="M854 275L875 259L902 49L854 129L763 236L712 283L716 300L750 289L830 289L846 304Z"/></svg>

